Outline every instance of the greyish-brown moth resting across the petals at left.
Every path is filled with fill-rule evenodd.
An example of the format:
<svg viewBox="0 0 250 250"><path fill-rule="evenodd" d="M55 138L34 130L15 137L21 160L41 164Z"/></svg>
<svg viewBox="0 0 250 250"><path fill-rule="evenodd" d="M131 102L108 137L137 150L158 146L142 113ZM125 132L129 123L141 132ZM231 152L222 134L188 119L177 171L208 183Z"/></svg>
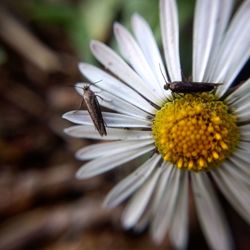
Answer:
<svg viewBox="0 0 250 250"><path fill-rule="evenodd" d="M77 87L79 88L79 87ZM90 89L90 85L86 84L83 86L83 100L86 104L88 113L94 123L95 128L99 132L101 136L107 135L105 122L103 120L102 111L100 104L97 100L97 96L95 93ZM81 103L82 106L82 103Z"/></svg>

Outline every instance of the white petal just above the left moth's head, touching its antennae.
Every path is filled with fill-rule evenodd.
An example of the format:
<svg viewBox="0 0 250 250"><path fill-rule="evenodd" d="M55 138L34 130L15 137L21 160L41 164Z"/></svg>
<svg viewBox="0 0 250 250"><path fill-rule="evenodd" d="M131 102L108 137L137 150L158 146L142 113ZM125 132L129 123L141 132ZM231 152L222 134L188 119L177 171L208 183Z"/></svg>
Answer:
<svg viewBox="0 0 250 250"><path fill-rule="evenodd" d="M119 97L148 113L154 113L155 109L145 99L110 74L87 63L80 63L79 69L81 73L93 83L101 79L97 86L102 91Z"/></svg>

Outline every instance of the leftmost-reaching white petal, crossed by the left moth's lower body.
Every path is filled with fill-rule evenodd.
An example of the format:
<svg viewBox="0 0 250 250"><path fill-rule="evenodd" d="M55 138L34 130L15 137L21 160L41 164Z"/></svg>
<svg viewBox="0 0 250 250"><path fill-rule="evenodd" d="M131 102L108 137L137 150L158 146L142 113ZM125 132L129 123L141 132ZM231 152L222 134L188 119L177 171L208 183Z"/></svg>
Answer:
<svg viewBox="0 0 250 250"><path fill-rule="evenodd" d="M109 128L150 128L151 122L137 117L117 113L102 112L105 125ZM73 110L63 115L63 118L82 125L93 125L87 110Z"/></svg>

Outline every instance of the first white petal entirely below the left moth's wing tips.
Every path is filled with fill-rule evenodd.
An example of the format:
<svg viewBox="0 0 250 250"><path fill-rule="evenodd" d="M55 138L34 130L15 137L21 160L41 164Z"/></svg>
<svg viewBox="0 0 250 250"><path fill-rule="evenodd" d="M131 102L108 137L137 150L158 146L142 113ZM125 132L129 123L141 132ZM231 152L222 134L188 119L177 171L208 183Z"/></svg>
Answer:
<svg viewBox="0 0 250 250"><path fill-rule="evenodd" d="M154 140L139 140L139 141L112 141L105 143L98 143L84 147L76 152L76 158L79 160L91 160L97 157L107 155L115 155L131 149L137 149L150 144Z"/></svg>

